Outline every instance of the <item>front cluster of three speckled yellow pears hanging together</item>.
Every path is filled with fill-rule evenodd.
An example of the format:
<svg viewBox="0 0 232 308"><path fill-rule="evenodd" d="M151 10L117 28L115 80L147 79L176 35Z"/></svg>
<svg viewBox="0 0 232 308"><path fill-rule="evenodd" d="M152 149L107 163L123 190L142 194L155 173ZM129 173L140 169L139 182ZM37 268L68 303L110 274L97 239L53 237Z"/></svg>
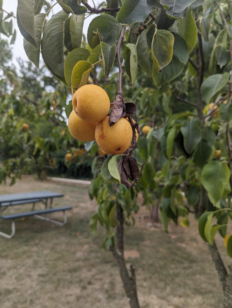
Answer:
<svg viewBox="0 0 232 308"><path fill-rule="evenodd" d="M68 118L68 129L79 141L96 140L100 149L108 154L122 154L132 141L132 127L128 120L120 118L109 125L110 100L104 89L87 84L75 91L73 111Z"/></svg>

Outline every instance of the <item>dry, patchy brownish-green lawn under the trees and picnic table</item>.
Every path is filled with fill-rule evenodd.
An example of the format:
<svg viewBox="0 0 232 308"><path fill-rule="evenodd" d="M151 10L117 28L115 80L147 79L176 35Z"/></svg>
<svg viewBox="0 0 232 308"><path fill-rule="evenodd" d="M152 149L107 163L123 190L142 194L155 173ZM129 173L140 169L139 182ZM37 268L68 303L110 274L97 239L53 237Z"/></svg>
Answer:
<svg viewBox="0 0 232 308"><path fill-rule="evenodd" d="M0 237L1 308L129 308L116 262L101 247L104 230L96 237L89 229L97 205L89 200L88 186L31 178L1 186L2 194L36 190L64 193L54 205L73 209L63 227L26 217L15 221L12 239ZM141 308L221 308L218 275L194 219L188 229L171 224L166 234L140 214L136 225L126 228L125 249L139 253L126 261L136 267ZM9 232L10 222L1 221L0 229Z"/></svg>

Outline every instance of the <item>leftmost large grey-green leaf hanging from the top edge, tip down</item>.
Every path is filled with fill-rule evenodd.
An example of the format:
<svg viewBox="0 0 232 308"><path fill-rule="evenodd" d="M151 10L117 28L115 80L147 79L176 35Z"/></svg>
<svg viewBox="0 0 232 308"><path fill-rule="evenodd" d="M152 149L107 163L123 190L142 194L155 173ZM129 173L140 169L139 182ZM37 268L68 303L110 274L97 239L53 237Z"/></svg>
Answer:
<svg viewBox="0 0 232 308"><path fill-rule="evenodd" d="M37 49L34 0L18 0L17 23L22 36Z"/></svg>

